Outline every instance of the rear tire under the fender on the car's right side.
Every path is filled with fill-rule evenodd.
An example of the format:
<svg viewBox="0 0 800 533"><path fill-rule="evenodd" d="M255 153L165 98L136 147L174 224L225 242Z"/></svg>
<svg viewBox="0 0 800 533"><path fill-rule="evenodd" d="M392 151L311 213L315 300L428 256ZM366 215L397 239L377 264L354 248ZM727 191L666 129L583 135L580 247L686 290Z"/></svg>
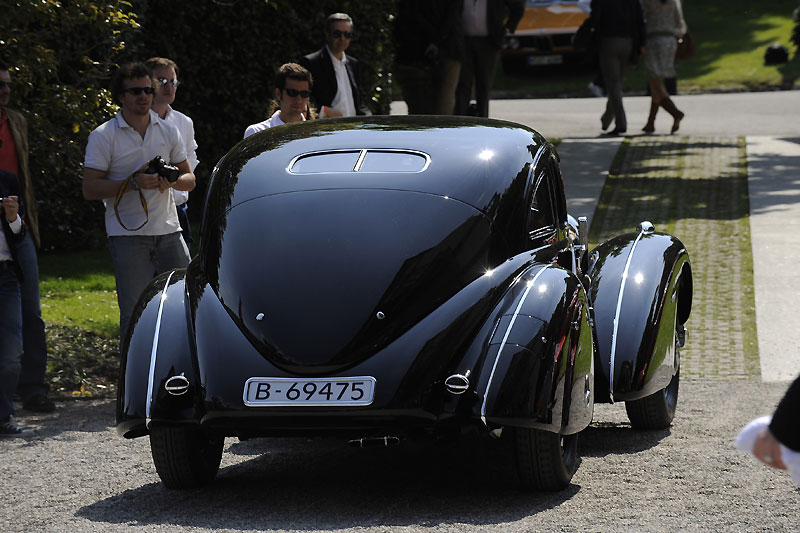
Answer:
<svg viewBox="0 0 800 533"><path fill-rule="evenodd" d="M557 491L569 486L580 465L578 434L512 428L517 475L523 489Z"/></svg>

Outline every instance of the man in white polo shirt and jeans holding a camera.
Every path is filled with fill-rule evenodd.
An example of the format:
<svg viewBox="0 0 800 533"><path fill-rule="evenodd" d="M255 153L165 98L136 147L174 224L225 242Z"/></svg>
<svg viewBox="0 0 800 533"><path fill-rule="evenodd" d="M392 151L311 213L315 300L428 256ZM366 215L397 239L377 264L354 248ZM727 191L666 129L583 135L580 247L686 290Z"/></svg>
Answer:
<svg viewBox="0 0 800 533"><path fill-rule="evenodd" d="M102 200L106 208L121 339L147 283L189 264L172 189L191 191L195 178L177 128L150 110L154 92L147 66L121 67L111 81L111 96L121 109L92 131L86 146L83 197ZM177 166L175 181L144 172L156 156Z"/></svg>

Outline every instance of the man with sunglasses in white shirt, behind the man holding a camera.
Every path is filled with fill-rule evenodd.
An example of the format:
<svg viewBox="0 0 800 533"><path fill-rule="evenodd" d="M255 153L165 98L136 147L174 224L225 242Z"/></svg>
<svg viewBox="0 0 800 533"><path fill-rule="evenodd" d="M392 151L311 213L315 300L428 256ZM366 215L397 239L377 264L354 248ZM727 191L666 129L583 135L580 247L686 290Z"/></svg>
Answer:
<svg viewBox="0 0 800 533"><path fill-rule="evenodd" d="M175 95L178 92L178 65L171 59L165 57L151 57L145 61L145 65L150 69L153 79L156 80L156 93L153 96L153 111L159 117L178 128L186 149L186 157L189 166L194 172L197 168L197 142L194 140L194 122L192 119L172 109ZM175 199L175 208L178 210L178 220L181 222L181 234L187 246L191 246L192 227L189 224L189 193L172 189L172 197Z"/></svg>

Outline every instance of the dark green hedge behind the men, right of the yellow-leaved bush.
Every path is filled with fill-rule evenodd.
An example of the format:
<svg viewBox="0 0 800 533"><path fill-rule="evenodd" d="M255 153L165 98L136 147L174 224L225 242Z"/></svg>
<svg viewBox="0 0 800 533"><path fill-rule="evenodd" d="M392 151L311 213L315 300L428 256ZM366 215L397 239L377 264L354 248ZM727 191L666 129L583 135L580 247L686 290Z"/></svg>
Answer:
<svg viewBox="0 0 800 533"><path fill-rule="evenodd" d="M189 204L195 216L214 164L248 125L267 118L275 71L318 50L325 19L337 11L353 18L348 52L364 66L368 104L373 113L388 113L395 0L142 1L141 40L127 52L169 57L180 68L175 107L194 121L202 162Z"/></svg>

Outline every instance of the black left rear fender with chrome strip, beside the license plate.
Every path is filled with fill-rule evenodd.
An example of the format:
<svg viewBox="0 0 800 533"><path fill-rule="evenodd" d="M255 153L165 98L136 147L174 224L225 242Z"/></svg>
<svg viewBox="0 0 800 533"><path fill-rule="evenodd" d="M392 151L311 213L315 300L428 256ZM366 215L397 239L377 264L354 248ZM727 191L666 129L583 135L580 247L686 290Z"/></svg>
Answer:
<svg viewBox="0 0 800 533"><path fill-rule="evenodd" d="M155 278L134 309L117 392L117 431L125 437L147 434L152 420L199 421L201 388L185 274L173 270Z"/></svg>

